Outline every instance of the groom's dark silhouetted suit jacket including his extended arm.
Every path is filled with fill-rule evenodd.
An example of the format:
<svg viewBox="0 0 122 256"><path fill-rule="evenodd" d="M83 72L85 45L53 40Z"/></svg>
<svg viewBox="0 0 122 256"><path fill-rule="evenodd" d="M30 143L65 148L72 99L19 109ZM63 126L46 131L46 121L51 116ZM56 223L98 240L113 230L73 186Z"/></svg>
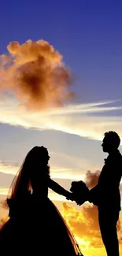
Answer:
<svg viewBox="0 0 122 256"><path fill-rule="evenodd" d="M119 150L109 154L98 178L97 186L89 192L89 201L98 207L120 210L120 180L122 155Z"/></svg>

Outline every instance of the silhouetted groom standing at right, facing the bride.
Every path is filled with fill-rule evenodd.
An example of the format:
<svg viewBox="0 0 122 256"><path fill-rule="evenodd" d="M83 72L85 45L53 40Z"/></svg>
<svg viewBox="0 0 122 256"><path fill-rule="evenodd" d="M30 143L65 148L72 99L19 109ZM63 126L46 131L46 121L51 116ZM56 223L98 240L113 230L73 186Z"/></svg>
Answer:
<svg viewBox="0 0 122 256"><path fill-rule="evenodd" d="M89 192L89 202L98 206L98 221L102 240L108 256L119 256L116 223L120 213L120 179L122 176L122 155L118 150L120 137L116 132L105 132L102 143L105 159L98 179L98 185Z"/></svg>

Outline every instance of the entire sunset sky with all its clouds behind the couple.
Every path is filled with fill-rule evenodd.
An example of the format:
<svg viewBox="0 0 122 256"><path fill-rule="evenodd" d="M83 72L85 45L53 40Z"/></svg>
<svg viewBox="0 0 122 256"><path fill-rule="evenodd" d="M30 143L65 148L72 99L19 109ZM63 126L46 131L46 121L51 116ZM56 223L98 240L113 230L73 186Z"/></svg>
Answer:
<svg viewBox="0 0 122 256"><path fill-rule="evenodd" d="M50 178L67 191L72 181L83 180L90 189L98 183L108 157L102 149L105 132L118 133L122 154L122 1L1 0L0 21L2 226L9 187L33 147L46 147ZM38 160L33 172L42 172ZM27 182L32 184L30 176ZM106 256L97 206L78 206L59 194L49 189L48 197L83 256ZM122 254L121 211L117 232Z"/></svg>

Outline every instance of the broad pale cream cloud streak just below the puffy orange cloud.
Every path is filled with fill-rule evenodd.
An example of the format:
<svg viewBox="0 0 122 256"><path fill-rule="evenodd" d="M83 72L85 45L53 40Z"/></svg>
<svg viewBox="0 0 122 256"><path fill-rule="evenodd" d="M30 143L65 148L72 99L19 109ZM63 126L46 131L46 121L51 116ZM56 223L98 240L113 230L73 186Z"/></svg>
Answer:
<svg viewBox="0 0 122 256"><path fill-rule="evenodd" d="M55 130L79 135L88 139L102 140L104 132L115 130L122 137L122 115L116 115L122 106L105 106L116 103L91 102L69 105L49 111L30 113L19 107L17 100L8 98L0 103L0 121L4 124L38 130ZM109 112L115 114L109 116ZM107 113L107 115L102 115Z"/></svg>

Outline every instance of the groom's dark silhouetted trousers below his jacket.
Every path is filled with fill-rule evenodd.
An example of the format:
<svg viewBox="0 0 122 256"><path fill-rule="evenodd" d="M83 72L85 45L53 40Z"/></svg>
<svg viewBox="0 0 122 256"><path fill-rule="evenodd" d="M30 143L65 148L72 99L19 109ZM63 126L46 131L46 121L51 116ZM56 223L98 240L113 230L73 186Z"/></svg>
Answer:
<svg viewBox="0 0 122 256"><path fill-rule="evenodd" d="M119 210L109 207L98 207L98 221L102 241L108 256L119 256L119 243L117 238L116 223L119 219Z"/></svg>

